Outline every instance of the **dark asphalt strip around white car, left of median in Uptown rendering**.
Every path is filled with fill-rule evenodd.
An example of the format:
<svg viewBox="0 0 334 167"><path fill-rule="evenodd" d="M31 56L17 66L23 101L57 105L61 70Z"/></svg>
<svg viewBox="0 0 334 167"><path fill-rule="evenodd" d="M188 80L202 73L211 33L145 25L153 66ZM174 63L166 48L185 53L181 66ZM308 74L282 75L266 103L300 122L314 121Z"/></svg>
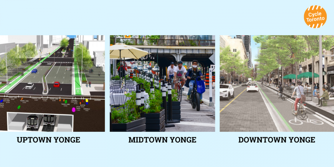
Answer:
<svg viewBox="0 0 334 167"><path fill-rule="evenodd" d="M9 91L9 94L30 94L30 95L42 95L43 93L43 85L42 83L34 83L34 87L32 89L25 89L27 83L19 83L15 88Z"/></svg>

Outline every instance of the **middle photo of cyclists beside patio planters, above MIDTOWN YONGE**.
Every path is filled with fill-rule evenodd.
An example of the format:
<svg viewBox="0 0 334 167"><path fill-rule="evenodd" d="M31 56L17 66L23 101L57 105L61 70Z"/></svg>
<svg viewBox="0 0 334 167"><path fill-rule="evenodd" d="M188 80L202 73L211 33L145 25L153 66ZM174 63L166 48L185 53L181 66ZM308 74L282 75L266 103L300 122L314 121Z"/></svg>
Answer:
<svg viewBox="0 0 334 167"><path fill-rule="evenodd" d="M214 35L110 35L111 132L214 132Z"/></svg>

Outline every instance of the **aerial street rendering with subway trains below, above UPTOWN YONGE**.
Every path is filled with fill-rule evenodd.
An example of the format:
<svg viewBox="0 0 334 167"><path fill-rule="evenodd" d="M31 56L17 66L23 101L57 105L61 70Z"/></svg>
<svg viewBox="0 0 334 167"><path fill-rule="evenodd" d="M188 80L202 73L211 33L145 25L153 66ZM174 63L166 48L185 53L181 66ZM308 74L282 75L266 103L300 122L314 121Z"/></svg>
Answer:
<svg viewBox="0 0 334 167"><path fill-rule="evenodd" d="M0 130L104 131L104 50L104 35L0 35Z"/></svg>

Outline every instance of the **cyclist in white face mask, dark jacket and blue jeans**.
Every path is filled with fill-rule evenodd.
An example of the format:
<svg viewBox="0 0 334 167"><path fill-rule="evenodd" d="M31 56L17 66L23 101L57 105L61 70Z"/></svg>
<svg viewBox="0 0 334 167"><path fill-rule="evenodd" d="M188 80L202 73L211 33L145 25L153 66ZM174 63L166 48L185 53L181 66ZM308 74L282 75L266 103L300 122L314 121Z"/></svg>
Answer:
<svg viewBox="0 0 334 167"><path fill-rule="evenodd" d="M188 94L187 94L187 100L190 100L190 94L191 94L192 87L193 87L194 82L195 82L194 79L190 80L191 77L192 76L200 76L201 78L203 78L203 74L202 74L201 70L199 70L197 68L197 65L198 65L198 61L193 60L192 61L192 68L188 69L187 73L185 74L185 76L188 78L186 87L189 88L189 91L188 91ZM200 103L203 103L202 97L203 97L202 94L199 94Z"/></svg>

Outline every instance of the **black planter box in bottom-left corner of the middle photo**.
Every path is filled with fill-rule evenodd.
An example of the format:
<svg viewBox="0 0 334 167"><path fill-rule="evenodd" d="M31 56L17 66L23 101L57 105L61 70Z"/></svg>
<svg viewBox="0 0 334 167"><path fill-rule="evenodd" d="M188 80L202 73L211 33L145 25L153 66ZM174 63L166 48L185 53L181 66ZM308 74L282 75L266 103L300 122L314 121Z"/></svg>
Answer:
<svg viewBox="0 0 334 167"><path fill-rule="evenodd" d="M140 118L126 124L112 124L113 132L144 132L146 118Z"/></svg>

